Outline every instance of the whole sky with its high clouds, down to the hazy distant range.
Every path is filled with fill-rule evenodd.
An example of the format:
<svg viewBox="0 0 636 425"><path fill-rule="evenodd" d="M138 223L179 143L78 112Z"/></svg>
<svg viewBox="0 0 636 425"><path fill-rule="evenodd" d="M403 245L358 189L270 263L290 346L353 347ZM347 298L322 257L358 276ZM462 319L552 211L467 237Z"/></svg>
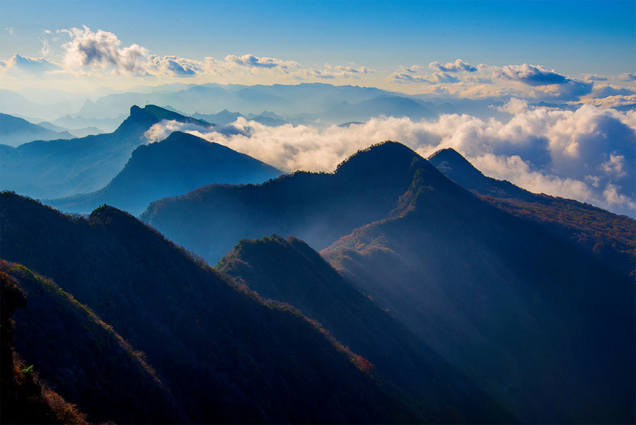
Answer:
<svg viewBox="0 0 636 425"><path fill-rule="evenodd" d="M616 85L618 76L635 74L635 5L3 0L1 86L88 91L172 81L327 81L425 93L462 79L430 67L457 59L495 68L529 64ZM101 56L77 49L91 39L102 42Z"/></svg>

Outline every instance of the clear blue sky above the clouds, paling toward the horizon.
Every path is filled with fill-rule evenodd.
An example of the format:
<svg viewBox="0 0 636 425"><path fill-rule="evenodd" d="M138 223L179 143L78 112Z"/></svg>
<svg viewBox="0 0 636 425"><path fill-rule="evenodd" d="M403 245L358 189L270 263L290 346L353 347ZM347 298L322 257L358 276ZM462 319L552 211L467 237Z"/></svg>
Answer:
<svg viewBox="0 0 636 425"><path fill-rule="evenodd" d="M396 86L390 76L400 66L426 67L456 59L499 67L531 64L579 79L636 71L635 1L3 0L0 22L0 59L5 62L20 54L60 64L64 52L59 49L69 36L56 32L86 25L93 33L114 34L120 48L139 45L158 57L204 61L251 54L295 62L298 69L365 68L369 72L364 78L353 78L359 85L409 93L416 93L421 84ZM95 66L92 71L95 76ZM52 77L52 69L48 72L37 80ZM170 80L162 75L134 81L135 75L124 74L107 74L99 83L152 85ZM261 73L257 82L293 83L289 74L270 74ZM314 81L314 74L293 78ZM351 83L350 77L336 75L330 82ZM66 81L69 86L71 79L57 78L54 85L62 87ZM192 82L204 81L245 83L254 81L254 74L207 75Z"/></svg>

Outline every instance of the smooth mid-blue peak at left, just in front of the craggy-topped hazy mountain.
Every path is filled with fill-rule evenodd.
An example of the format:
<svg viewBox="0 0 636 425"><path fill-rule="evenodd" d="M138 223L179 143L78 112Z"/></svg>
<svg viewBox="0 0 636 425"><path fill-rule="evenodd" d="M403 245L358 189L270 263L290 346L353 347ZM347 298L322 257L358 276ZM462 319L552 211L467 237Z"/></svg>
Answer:
<svg viewBox="0 0 636 425"><path fill-rule="evenodd" d="M165 140L141 145L124 169L101 190L45 203L75 213L109 204L141 214L152 201L184 194L211 183L260 183L283 174L244 153L192 134L173 132Z"/></svg>

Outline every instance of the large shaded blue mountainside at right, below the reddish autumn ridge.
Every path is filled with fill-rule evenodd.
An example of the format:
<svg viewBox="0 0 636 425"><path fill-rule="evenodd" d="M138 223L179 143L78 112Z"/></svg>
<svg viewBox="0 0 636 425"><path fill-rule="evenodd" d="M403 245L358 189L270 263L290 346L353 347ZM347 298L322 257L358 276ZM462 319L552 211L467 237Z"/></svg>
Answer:
<svg viewBox="0 0 636 425"><path fill-rule="evenodd" d="M519 421L635 421L633 280L425 164L322 255Z"/></svg>

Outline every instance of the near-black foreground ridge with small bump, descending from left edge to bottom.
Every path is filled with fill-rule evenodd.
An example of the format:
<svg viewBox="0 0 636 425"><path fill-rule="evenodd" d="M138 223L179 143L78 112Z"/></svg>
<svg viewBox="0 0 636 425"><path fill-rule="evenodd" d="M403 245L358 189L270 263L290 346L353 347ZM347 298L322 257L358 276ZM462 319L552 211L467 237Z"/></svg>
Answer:
<svg viewBox="0 0 636 425"><path fill-rule="evenodd" d="M11 192L0 201L2 256L54 279L146 353L184 422L421 421L317 324L133 216L103 206L78 218Z"/></svg>

